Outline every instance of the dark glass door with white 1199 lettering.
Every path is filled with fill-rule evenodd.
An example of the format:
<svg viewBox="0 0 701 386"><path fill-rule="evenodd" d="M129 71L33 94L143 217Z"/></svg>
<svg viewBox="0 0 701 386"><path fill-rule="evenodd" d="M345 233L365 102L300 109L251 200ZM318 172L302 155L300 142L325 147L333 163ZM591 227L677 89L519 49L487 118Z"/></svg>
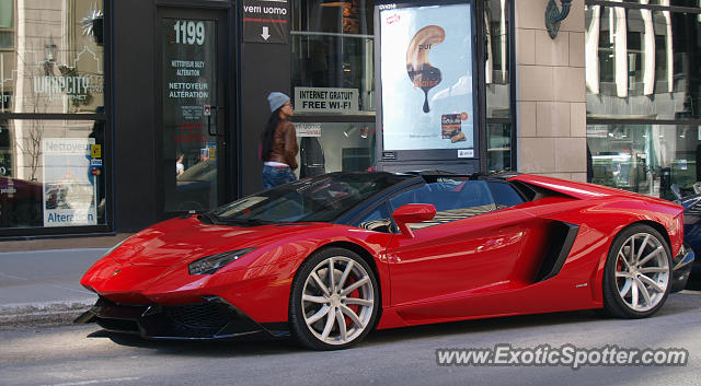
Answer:
<svg viewBox="0 0 701 386"><path fill-rule="evenodd" d="M164 10L161 27L161 165L165 213L220 203L225 174L226 13Z"/></svg>

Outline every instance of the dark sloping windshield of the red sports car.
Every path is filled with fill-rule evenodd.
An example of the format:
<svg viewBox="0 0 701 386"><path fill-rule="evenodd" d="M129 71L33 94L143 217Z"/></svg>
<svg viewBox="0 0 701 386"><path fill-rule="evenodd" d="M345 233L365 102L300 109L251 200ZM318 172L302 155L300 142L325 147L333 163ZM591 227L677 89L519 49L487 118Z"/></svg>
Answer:
<svg viewBox="0 0 701 386"><path fill-rule="evenodd" d="M411 178L390 173L332 173L245 197L214 210L217 221L250 225L331 222L379 191Z"/></svg>

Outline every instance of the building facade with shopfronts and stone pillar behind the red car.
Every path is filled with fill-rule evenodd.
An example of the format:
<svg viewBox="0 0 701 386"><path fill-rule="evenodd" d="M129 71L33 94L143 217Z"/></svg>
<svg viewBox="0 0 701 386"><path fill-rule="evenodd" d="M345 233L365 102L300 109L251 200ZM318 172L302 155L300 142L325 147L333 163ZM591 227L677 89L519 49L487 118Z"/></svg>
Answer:
<svg viewBox="0 0 701 386"><path fill-rule="evenodd" d="M696 0L0 0L0 239L134 232L262 189L272 91L292 97L300 177L690 194L700 21Z"/></svg>

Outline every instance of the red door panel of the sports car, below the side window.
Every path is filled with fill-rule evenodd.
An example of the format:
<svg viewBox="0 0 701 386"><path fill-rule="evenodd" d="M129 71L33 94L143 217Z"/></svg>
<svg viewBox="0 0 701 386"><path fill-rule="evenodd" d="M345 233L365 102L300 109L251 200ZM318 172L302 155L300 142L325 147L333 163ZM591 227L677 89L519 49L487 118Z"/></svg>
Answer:
<svg viewBox="0 0 701 386"><path fill-rule="evenodd" d="M475 289L513 282L532 217L499 211L399 235L387 248L392 305L432 303Z"/></svg>

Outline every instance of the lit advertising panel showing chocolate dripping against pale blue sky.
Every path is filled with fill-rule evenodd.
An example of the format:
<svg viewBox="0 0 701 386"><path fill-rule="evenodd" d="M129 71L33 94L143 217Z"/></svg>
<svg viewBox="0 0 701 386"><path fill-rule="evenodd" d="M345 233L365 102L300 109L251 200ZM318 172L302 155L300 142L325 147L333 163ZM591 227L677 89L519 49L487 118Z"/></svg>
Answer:
<svg viewBox="0 0 701 386"><path fill-rule="evenodd" d="M378 10L383 150L475 157L472 4Z"/></svg>

